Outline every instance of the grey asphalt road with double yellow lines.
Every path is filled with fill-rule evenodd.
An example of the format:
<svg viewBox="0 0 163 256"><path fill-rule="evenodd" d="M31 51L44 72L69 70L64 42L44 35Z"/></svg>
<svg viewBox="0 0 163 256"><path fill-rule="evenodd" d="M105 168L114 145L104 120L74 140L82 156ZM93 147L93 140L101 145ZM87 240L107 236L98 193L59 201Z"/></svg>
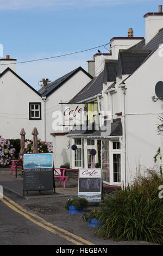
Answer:
<svg viewBox="0 0 163 256"><path fill-rule="evenodd" d="M25 200L4 190L0 199L0 245L148 245L146 242L102 240L87 227L82 214L67 214L67 198ZM92 206L87 209L97 209Z"/></svg>

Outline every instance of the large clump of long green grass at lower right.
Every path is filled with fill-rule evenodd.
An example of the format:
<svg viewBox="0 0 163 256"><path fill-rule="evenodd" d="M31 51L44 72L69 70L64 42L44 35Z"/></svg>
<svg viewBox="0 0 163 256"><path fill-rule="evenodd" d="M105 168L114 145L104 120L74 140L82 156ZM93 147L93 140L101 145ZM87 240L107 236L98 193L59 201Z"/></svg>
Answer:
<svg viewBox="0 0 163 256"><path fill-rule="evenodd" d="M163 199L161 174L148 171L114 196L108 196L98 212L103 222L97 234L116 240L148 241L163 245Z"/></svg>

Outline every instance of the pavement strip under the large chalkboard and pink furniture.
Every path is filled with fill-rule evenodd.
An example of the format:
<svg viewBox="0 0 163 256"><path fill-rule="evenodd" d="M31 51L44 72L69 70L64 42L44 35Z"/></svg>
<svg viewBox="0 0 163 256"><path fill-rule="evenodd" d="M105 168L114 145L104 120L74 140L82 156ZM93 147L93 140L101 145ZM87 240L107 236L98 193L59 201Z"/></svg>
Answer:
<svg viewBox="0 0 163 256"><path fill-rule="evenodd" d="M11 170L0 169L0 185L6 190L9 190L17 196L23 197L23 178L21 178L21 172L17 171L17 178L15 175L11 174ZM65 197L65 196L78 196L78 181L77 180L67 180L66 187L59 187L59 179L55 180L55 193L52 191L29 191L28 194L25 193L23 198L33 199L33 198L48 198L48 197Z"/></svg>

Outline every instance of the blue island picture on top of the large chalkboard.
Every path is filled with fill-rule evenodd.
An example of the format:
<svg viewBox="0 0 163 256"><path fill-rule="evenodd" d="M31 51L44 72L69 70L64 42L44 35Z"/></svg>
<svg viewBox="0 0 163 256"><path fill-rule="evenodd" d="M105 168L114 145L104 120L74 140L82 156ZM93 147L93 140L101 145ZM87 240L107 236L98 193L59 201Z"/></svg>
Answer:
<svg viewBox="0 0 163 256"><path fill-rule="evenodd" d="M24 154L24 168L52 168L53 154Z"/></svg>

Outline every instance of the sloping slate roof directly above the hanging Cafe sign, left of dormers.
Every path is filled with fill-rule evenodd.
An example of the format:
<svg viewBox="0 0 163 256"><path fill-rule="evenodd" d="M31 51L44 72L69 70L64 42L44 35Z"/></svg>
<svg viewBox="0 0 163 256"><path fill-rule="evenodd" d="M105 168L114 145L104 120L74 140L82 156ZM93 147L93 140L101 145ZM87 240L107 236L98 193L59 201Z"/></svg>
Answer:
<svg viewBox="0 0 163 256"><path fill-rule="evenodd" d="M103 90L103 77L104 70L97 77L93 78L92 81L87 83L86 86L80 90L80 92L74 96L69 103L80 102L101 93Z"/></svg>

